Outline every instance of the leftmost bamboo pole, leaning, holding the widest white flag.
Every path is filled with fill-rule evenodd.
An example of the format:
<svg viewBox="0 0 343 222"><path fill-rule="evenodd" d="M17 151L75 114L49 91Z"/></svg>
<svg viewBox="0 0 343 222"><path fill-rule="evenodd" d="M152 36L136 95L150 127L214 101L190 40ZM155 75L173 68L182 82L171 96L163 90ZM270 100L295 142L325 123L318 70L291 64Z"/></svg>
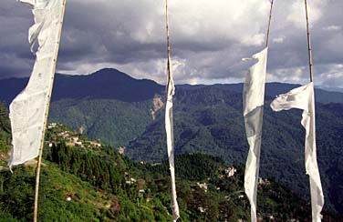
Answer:
<svg viewBox="0 0 343 222"><path fill-rule="evenodd" d="M52 73L52 76L51 76L51 82L50 82L50 87L49 87L48 96L47 96L47 109L46 109L46 114L45 114L45 119L44 119L44 126L43 126L43 130L42 130L42 139L41 139L40 147L39 147L38 162L36 164L36 186L35 186L34 222L37 221L36 218L37 218L37 213L38 213L39 179L40 179L40 168L41 168L41 165L42 165L42 155L43 155L43 147L44 147L44 136L46 134L46 128L47 128L47 116L48 116L48 113L49 113L52 87L53 87L54 78L55 78L55 72L56 72L57 55L58 55L59 42L60 42L60 39L61 39L62 25L63 25L64 14L65 14L65 9L66 9L66 1L67 0L63 1L62 20L60 22L60 27L59 27L59 30L58 30L57 49L56 49L56 52L55 52L54 65L53 65L53 73Z"/></svg>

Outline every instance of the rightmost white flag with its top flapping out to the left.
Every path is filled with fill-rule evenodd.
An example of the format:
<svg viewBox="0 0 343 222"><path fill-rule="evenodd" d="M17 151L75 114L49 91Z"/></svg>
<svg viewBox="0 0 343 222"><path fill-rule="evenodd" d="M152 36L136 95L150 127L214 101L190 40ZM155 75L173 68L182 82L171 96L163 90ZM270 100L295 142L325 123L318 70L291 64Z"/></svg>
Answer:
<svg viewBox="0 0 343 222"><path fill-rule="evenodd" d="M312 221L320 222L324 206L323 190L317 166L315 96L313 83L297 87L286 94L277 96L270 105L276 112L291 108L303 109L301 125L306 129L305 166L311 190Z"/></svg>

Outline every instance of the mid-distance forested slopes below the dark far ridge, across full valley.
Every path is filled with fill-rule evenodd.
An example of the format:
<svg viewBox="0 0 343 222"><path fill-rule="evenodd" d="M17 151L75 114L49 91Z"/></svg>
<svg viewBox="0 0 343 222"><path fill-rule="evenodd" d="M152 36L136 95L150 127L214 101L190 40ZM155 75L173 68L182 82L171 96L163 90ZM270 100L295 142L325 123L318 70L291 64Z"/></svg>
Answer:
<svg viewBox="0 0 343 222"><path fill-rule="evenodd" d="M155 96L161 98L161 96ZM163 99L161 99L162 103ZM274 113L267 97L263 126L261 175L309 197L304 166L301 111ZM156 102L156 101L155 101ZM50 121L82 128L93 139L126 146L125 155L137 161L166 158L163 104L154 98L140 102L115 99L58 100L51 106ZM317 104L317 156L326 207L343 214L341 163L343 105ZM151 115L151 110L156 110ZM183 87L174 99L174 136L177 154L220 156L227 164L244 165L242 95L218 86Z"/></svg>

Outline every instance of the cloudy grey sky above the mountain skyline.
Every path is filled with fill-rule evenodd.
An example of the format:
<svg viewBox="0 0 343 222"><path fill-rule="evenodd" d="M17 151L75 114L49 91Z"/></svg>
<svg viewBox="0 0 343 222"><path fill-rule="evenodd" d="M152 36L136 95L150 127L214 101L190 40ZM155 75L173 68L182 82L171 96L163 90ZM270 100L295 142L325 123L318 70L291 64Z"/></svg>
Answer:
<svg viewBox="0 0 343 222"><path fill-rule="evenodd" d="M164 0L67 0L57 72L114 67L165 81ZM317 86L343 87L343 1L309 0ZM242 82L242 62L265 46L269 0L170 0L172 65L177 84ZM0 2L0 78L29 76L33 16L16 0ZM267 81L307 83L303 0L275 0Z"/></svg>

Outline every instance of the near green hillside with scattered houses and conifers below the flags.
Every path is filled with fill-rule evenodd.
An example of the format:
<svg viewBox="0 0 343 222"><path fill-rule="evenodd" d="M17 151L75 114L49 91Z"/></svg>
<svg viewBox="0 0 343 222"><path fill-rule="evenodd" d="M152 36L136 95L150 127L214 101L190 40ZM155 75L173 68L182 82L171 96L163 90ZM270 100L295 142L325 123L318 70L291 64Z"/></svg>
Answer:
<svg viewBox="0 0 343 222"><path fill-rule="evenodd" d="M172 220L167 162L132 162L67 126L50 125L46 138L41 221ZM179 221L248 221L242 166L229 167L218 157L202 154L176 156L175 163ZM16 166L13 174L0 171L0 221L31 220L34 166ZM309 221L308 202L271 179L261 180L258 202L264 221ZM324 214L324 221L335 219Z"/></svg>

